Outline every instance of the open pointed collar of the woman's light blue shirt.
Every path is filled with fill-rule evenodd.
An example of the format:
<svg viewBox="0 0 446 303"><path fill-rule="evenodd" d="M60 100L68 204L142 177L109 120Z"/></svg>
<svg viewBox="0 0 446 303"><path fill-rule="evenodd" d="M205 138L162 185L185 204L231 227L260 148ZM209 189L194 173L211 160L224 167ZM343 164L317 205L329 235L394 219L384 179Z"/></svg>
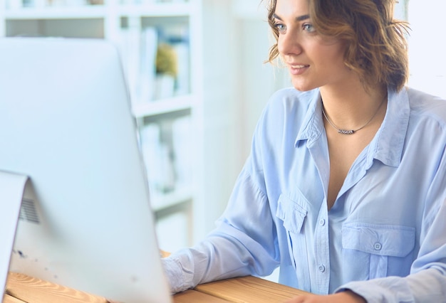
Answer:
<svg viewBox="0 0 446 303"><path fill-rule="evenodd" d="M301 130L296 137L295 147L307 141L310 147L323 134L321 93L314 90ZM405 134L408 130L410 116L408 92L404 88L400 92L388 90L388 105L383 124L368 145L366 166L378 159L388 166L398 166L403 154Z"/></svg>

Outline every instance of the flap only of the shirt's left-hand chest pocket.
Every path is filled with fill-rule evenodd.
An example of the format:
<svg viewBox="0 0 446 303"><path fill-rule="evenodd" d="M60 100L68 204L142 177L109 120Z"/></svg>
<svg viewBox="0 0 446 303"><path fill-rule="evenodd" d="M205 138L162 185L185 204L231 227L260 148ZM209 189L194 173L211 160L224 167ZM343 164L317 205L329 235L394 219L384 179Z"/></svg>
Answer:
<svg viewBox="0 0 446 303"><path fill-rule="evenodd" d="M284 227L292 233L300 233L307 211L284 194L279 196L276 217L284 221Z"/></svg>

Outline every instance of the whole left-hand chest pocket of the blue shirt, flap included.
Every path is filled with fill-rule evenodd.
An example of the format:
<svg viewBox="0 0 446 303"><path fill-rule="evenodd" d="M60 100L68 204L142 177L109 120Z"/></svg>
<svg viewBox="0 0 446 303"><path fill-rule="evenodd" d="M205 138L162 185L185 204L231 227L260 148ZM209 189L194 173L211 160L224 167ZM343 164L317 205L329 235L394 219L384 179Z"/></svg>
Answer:
<svg viewBox="0 0 446 303"><path fill-rule="evenodd" d="M301 199L304 200L303 197ZM284 223L288 238L289 255L294 263L299 289L310 289L310 273L308 267L308 251L304 222L308 211L306 201L293 201L281 194L277 203L276 217Z"/></svg>

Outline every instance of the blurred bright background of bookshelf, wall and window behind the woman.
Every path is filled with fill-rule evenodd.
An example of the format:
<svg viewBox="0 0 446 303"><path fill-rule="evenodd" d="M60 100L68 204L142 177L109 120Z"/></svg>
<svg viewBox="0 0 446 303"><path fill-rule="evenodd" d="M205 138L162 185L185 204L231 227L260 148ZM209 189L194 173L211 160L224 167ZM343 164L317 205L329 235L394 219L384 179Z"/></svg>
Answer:
<svg viewBox="0 0 446 303"><path fill-rule="evenodd" d="M115 44L138 122L160 246L175 251L212 230L249 155L264 105L289 86L286 71L264 63L272 41L265 5L0 0L0 36ZM444 0L400 0L395 11L412 28L409 84L442 97L445 11Z"/></svg>

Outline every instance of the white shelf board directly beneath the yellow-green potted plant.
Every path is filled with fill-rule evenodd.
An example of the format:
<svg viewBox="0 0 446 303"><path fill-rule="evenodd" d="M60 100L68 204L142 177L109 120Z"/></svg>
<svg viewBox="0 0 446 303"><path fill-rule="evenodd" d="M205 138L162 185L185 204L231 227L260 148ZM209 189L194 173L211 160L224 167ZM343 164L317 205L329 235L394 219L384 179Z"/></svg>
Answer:
<svg viewBox="0 0 446 303"><path fill-rule="evenodd" d="M135 103L132 105L133 115L136 118L144 118L190 110L194 106L193 100L192 95L185 95L152 102Z"/></svg>

